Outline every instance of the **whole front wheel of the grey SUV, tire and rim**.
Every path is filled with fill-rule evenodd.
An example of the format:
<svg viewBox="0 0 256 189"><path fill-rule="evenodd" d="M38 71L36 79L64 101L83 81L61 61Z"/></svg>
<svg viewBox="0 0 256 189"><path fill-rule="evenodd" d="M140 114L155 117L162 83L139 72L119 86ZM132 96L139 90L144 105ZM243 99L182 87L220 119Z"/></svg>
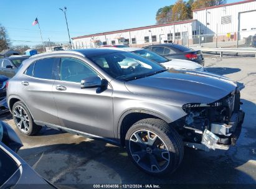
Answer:
<svg viewBox="0 0 256 189"><path fill-rule="evenodd" d="M172 173L183 159L181 137L161 119L142 119L133 124L125 144L133 163L151 175Z"/></svg>

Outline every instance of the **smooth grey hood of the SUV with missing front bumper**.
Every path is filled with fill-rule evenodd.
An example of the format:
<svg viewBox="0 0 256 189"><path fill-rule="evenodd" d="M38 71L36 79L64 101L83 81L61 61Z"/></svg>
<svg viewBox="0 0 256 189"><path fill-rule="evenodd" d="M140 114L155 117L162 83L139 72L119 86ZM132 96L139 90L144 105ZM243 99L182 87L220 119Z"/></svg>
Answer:
<svg viewBox="0 0 256 189"><path fill-rule="evenodd" d="M145 78L125 82L131 93L170 99L179 105L186 103L212 103L237 87L224 76L197 71L168 70Z"/></svg>

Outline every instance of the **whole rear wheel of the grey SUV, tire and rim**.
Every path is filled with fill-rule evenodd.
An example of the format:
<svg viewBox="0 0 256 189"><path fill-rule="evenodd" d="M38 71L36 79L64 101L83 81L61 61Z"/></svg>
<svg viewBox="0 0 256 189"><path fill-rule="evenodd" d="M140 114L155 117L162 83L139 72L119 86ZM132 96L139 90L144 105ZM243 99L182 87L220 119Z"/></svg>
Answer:
<svg viewBox="0 0 256 189"><path fill-rule="evenodd" d="M14 103L12 107L12 117L16 124L16 127L19 129L22 134L26 134L27 136L32 136L37 134L42 126L37 126L34 123L34 119L29 113L26 105L22 103L22 101L17 101Z"/></svg>

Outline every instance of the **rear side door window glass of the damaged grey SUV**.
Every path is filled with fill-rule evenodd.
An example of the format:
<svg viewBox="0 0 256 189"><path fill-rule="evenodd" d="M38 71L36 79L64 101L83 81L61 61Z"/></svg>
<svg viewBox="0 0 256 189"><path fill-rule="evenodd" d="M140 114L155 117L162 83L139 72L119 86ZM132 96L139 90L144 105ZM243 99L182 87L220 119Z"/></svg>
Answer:
<svg viewBox="0 0 256 189"><path fill-rule="evenodd" d="M41 78L46 80L52 80L54 76L55 61L59 58L44 58L37 60L34 65L33 76L35 78Z"/></svg>

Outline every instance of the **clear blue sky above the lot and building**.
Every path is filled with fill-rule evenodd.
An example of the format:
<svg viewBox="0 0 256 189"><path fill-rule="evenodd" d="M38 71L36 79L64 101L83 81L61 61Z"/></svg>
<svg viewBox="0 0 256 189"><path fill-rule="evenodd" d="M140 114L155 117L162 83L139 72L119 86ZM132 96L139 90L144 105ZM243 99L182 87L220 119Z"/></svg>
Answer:
<svg viewBox="0 0 256 189"><path fill-rule="evenodd" d="M227 3L239 0L227 0ZM0 0L0 24L6 27L12 45L40 44L39 20L44 41L68 42L70 37L156 24L156 11L176 0Z"/></svg>

